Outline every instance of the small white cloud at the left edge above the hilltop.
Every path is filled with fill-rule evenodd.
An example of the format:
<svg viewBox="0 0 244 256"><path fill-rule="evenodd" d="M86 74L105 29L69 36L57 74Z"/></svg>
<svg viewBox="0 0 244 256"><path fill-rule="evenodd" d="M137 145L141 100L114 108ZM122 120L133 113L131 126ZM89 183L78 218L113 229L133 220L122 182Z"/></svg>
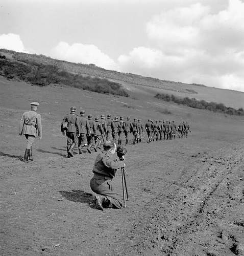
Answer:
<svg viewBox="0 0 244 256"><path fill-rule="evenodd" d="M0 35L0 49L1 48L16 52L29 52L23 45L20 36L13 33Z"/></svg>

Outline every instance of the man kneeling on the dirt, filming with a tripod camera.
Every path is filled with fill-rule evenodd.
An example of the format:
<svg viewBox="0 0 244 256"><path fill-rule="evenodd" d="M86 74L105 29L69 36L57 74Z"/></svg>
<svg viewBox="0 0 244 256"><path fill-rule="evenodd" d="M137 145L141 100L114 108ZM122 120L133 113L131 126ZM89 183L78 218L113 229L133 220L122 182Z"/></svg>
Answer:
<svg viewBox="0 0 244 256"><path fill-rule="evenodd" d="M96 157L92 172L93 178L90 181L91 190L96 193L93 196L96 209L122 208L123 203L117 193L114 193L111 180L115 177L118 168L125 167L124 161L114 159L116 144L105 141L104 150Z"/></svg>

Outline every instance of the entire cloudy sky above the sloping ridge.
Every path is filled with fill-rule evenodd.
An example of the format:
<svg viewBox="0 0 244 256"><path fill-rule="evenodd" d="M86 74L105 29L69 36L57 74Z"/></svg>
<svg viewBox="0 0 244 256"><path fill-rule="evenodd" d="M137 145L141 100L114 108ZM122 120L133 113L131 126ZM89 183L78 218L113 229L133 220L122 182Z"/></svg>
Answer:
<svg viewBox="0 0 244 256"><path fill-rule="evenodd" d="M244 92L244 0L1 0L0 48Z"/></svg>

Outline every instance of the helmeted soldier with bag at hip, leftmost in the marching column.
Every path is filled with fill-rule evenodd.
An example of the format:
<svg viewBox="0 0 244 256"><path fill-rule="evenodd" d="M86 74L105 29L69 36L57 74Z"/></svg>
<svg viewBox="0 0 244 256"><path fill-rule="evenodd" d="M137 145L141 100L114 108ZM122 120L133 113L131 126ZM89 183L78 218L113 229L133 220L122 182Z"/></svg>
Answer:
<svg viewBox="0 0 244 256"><path fill-rule="evenodd" d="M61 132L67 137L67 158L73 157L73 148L78 144L77 137L81 133L80 124L78 121L78 116L76 115L76 107L72 106L70 108L70 114L63 118L61 123ZM78 135L77 135L78 134Z"/></svg>

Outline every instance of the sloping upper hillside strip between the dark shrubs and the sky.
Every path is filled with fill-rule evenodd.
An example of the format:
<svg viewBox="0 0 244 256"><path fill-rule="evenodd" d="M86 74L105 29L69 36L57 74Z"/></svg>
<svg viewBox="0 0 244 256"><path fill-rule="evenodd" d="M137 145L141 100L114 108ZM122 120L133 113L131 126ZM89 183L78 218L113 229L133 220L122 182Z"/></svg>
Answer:
<svg viewBox="0 0 244 256"><path fill-rule="evenodd" d="M68 61L56 60L44 55L17 53L14 51L1 50L0 53L6 54L8 58L25 62L33 62L45 65L57 66L73 74L88 75L92 77L107 78L113 82L123 84L123 86L137 95L147 95L154 97L157 93L174 94L179 97L196 98L197 100L206 100L208 102L224 103L235 109L244 107L244 93L232 90L223 90L210 88L201 84L187 84L181 82L160 80L140 75L121 73L105 70L95 65L76 64Z"/></svg>

